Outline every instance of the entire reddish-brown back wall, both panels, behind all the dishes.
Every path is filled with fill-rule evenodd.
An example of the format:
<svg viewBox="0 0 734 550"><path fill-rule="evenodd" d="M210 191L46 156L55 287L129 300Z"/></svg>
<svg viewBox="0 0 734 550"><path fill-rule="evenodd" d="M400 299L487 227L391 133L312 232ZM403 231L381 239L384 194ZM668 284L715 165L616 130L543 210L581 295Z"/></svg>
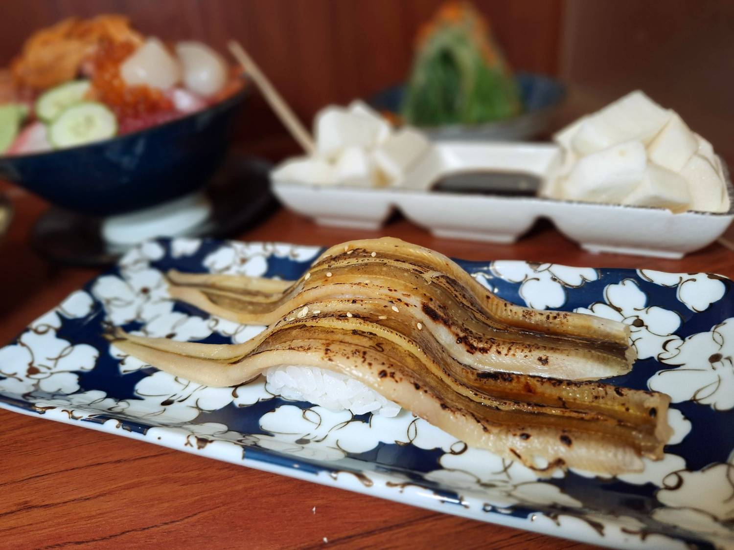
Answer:
<svg viewBox="0 0 734 550"><path fill-rule="evenodd" d="M368 98L404 81L422 23L441 0L5 0L0 66L34 30L70 15L129 15L145 34L226 51L240 40L310 125L328 103ZM678 111L729 164L734 145L734 2L729 0L474 0L514 70L560 78L556 127L632 89ZM241 114L236 139L274 160L297 146L264 100Z"/></svg>

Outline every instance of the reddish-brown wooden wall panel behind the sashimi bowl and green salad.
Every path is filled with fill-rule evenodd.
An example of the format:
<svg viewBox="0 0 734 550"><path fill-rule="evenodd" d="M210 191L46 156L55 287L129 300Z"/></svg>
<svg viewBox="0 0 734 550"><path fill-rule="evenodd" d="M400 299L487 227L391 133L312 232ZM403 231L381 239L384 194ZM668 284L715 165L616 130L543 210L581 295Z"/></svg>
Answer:
<svg viewBox="0 0 734 550"><path fill-rule="evenodd" d="M413 38L440 0L0 0L0 64L24 38L68 15L123 12L163 38L194 37L224 50L236 38L310 123L327 103L366 97L403 80ZM557 70L562 0L478 0L517 69ZM282 128L260 98L242 139L267 142Z"/></svg>

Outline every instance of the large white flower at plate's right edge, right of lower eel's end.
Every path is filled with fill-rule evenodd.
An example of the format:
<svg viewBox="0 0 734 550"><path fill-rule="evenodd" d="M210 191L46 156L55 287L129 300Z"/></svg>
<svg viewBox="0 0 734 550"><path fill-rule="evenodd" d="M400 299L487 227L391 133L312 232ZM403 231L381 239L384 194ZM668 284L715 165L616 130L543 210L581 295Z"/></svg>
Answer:
<svg viewBox="0 0 734 550"><path fill-rule="evenodd" d="M670 395L673 403L695 401L717 411L734 408L734 318L686 340L668 342L658 356L675 368L658 370L647 385Z"/></svg>

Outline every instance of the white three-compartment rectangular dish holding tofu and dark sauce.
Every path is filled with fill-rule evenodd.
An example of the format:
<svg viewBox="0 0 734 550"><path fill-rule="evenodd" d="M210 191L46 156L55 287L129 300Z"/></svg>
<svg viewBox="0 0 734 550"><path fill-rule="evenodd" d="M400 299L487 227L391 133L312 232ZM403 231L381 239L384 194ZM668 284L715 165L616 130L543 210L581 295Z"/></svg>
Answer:
<svg viewBox="0 0 734 550"><path fill-rule="evenodd" d="M468 171L524 172L545 182L559 170L554 144L438 142L396 186L373 188L272 181L287 208L317 224L377 229L394 210L433 235L512 243L541 218L590 252L680 258L716 241L734 219L725 213L574 202L541 197L430 191L446 175ZM728 172L727 190L733 189Z"/></svg>

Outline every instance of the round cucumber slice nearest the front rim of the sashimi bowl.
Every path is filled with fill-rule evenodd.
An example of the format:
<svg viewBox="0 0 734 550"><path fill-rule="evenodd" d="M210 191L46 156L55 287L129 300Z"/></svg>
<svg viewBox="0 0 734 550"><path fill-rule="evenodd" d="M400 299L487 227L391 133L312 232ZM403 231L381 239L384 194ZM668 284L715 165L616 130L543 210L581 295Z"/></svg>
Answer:
<svg viewBox="0 0 734 550"><path fill-rule="evenodd" d="M54 147L75 147L108 139L117 133L115 114L102 103L84 101L68 107L48 128Z"/></svg>

